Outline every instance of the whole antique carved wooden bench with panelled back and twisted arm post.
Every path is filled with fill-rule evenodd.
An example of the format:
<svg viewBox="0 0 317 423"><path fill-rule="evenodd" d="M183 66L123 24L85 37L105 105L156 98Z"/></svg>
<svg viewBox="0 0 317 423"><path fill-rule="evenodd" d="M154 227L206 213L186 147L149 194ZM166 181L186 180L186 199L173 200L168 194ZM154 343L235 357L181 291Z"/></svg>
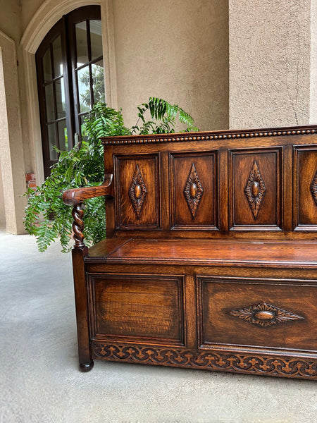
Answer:
<svg viewBox="0 0 317 423"><path fill-rule="evenodd" d="M73 205L79 360L317 379L317 126L108 137ZM87 248L83 202L106 197Z"/></svg>

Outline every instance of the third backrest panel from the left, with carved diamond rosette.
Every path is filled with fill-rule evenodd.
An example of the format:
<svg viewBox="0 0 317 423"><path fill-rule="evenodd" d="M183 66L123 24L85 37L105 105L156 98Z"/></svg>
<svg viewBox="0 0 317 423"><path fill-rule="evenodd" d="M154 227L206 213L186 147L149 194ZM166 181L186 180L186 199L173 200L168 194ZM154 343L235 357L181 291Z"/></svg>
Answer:
<svg viewBox="0 0 317 423"><path fill-rule="evenodd" d="M280 149L231 150L229 203L232 230L280 228L280 168Z"/></svg>

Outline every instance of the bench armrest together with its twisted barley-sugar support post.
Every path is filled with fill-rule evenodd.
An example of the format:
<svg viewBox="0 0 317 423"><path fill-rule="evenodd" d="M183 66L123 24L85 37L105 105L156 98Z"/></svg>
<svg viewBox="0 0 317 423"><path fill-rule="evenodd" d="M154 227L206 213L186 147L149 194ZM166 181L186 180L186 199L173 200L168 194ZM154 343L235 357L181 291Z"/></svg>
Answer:
<svg viewBox="0 0 317 423"><path fill-rule="evenodd" d="M68 206L73 206L73 238L75 240L75 250L87 250L84 243L84 210L82 202L89 198L100 197L101 195L111 195L113 197L113 174L105 175L104 182L99 187L73 188L63 193L63 202Z"/></svg>

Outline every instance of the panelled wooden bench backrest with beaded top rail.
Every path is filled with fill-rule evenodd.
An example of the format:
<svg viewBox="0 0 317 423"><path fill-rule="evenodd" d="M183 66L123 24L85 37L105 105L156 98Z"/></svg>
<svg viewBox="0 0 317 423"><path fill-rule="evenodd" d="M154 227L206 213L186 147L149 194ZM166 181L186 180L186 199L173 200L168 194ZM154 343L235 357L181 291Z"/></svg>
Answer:
<svg viewBox="0 0 317 423"><path fill-rule="evenodd" d="M317 126L103 142L108 237L316 238Z"/></svg>

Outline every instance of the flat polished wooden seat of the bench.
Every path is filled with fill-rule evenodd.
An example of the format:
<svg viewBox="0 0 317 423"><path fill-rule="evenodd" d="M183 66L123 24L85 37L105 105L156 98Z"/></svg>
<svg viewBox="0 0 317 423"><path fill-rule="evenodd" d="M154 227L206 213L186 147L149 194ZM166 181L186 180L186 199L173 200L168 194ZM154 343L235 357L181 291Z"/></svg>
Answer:
<svg viewBox="0 0 317 423"><path fill-rule="evenodd" d="M316 241L232 241L197 239L103 240L89 248L86 263L317 266Z"/></svg>

